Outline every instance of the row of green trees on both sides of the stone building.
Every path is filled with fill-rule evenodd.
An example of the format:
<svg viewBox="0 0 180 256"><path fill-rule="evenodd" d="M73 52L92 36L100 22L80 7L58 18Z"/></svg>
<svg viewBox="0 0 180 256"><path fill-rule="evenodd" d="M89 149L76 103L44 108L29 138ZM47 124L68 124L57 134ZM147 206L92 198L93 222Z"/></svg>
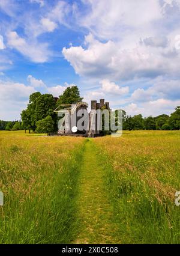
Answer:
<svg viewBox="0 0 180 256"><path fill-rule="evenodd" d="M25 110L21 113L20 121L1 121L0 130L31 130L38 133L57 132L58 116L54 109L61 104L72 104L80 102L77 86L67 87L64 93L55 98L52 94L33 93L29 96L29 103ZM157 117L143 118L141 114L131 117L123 111L124 130L180 130L180 106L169 115L163 114Z"/></svg>

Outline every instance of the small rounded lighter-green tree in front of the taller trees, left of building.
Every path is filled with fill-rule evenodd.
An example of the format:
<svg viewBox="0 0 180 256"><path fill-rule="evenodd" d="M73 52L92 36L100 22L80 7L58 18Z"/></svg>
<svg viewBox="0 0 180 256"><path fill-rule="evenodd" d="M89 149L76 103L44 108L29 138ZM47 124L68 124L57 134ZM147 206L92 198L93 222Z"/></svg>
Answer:
<svg viewBox="0 0 180 256"><path fill-rule="evenodd" d="M54 129L53 119L49 115L46 118L43 118L42 120L37 121L36 125L37 125L36 131L38 133L50 133L50 132L53 132L53 129Z"/></svg>

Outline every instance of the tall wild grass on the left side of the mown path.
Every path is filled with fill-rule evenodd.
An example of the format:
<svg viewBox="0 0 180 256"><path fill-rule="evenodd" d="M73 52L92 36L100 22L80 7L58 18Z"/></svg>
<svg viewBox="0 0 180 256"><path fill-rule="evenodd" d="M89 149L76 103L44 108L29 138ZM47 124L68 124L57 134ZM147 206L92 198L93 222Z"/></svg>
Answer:
<svg viewBox="0 0 180 256"><path fill-rule="evenodd" d="M69 243L84 139L0 132L0 141L0 243Z"/></svg>

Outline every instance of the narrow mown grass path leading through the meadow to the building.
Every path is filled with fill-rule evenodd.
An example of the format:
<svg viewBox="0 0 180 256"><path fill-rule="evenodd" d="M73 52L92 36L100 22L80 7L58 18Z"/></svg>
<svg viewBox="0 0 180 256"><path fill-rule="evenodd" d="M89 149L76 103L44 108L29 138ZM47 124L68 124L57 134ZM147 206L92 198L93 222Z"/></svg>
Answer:
<svg viewBox="0 0 180 256"><path fill-rule="evenodd" d="M97 154L94 142L89 139L79 177L79 234L73 243L120 243L104 185L104 170L98 163Z"/></svg>

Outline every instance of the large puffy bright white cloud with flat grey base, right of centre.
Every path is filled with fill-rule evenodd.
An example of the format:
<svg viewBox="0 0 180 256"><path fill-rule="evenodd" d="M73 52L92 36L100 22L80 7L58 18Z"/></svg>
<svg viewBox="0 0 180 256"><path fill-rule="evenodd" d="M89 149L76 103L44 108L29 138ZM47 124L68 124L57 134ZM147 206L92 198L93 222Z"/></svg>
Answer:
<svg viewBox="0 0 180 256"><path fill-rule="evenodd" d="M85 37L87 49L82 46L63 48L65 59L70 62L80 76L107 78L110 80L133 79L137 77L155 77L164 73L179 73L179 53L169 61L161 52L137 44L131 49L121 48L118 42L101 43L91 34ZM163 52L164 53L164 52Z"/></svg>

